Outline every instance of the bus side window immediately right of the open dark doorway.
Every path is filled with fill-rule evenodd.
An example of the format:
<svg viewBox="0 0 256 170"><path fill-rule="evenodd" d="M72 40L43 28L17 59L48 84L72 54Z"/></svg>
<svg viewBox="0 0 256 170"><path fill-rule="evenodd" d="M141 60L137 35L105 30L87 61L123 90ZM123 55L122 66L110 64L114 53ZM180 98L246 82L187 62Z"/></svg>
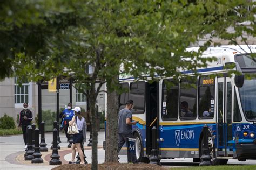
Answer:
<svg viewBox="0 0 256 170"><path fill-rule="evenodd" d="M169 84L168 84L169 83ZM163 81L162 118L164 121L177 120L179 108L179 81Z"/></svg>

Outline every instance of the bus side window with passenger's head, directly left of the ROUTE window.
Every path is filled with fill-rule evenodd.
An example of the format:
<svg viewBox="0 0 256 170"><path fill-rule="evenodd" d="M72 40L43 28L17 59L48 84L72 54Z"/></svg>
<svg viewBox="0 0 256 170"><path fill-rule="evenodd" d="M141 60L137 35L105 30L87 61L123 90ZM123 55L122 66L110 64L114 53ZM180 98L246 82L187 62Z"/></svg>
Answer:
<svg viewBox="0 0 256 170"><path fill-rule="evenodd" d="M180 109L181 120L196 119L197 110L197 82L196 77L188 77L180 80Z"/></svg>

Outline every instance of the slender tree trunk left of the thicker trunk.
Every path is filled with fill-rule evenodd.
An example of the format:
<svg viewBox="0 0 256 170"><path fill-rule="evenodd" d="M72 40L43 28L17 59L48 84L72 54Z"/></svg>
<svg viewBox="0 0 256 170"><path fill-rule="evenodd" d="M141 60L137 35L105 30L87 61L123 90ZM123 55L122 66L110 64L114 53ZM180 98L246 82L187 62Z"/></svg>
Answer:
<svg viewBox="0 0 256 170"><path fill-rule="evenodd" d="M98 169L98 127L96 121L96 93L95 93L95 83L91 83L90 88L90 112L91 112L91 119L92 119L92 166L91 169L97 170Z"/></svg>

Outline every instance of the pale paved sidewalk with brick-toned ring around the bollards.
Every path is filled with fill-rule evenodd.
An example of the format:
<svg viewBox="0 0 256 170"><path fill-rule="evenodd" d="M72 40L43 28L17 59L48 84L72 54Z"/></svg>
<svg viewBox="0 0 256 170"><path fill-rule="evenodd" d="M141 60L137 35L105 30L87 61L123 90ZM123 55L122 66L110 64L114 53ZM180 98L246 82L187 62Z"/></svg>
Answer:
<svg viewBox="0 0 256 170"><path fill-rule="evenodd" d="M103 141L105 140L104 131L98 132L98 161L104 162L105 151L103 150ZM85 155L86 160L91 162L91 147L87 147L88 140L90 138L90 132L87 132L86 143L85 143ZM68 142L66 141L65 133L60 133L60 141L62 143L59 144L60 150L58 153L60 155L60 160L62 164L67 164L71 159L71 149L68 148ZM49 165L49 161L51 160L50 155L52 154L51 142L52 142L52 133L45 133L45 142L48 147L48 152L41 152L42 157L44 159L43 164L32 164L31 161L24 160L24 142L22 135L16 136L0 136L0 169L51 169L58 165Z"/></svg>

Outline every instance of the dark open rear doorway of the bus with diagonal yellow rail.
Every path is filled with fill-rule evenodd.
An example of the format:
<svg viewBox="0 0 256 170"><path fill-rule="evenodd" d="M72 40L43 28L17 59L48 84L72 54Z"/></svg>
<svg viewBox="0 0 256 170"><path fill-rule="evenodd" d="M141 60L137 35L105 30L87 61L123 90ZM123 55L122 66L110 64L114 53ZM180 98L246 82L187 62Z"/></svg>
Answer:
<svg viewBox="0 0 256 170"><path fill-rule="evenodd" d="M146 154L151 154L152 131L155 126L158 129L159 120L159 82L146 83ZM157 130L158 138L158 130Z"/></svg>

